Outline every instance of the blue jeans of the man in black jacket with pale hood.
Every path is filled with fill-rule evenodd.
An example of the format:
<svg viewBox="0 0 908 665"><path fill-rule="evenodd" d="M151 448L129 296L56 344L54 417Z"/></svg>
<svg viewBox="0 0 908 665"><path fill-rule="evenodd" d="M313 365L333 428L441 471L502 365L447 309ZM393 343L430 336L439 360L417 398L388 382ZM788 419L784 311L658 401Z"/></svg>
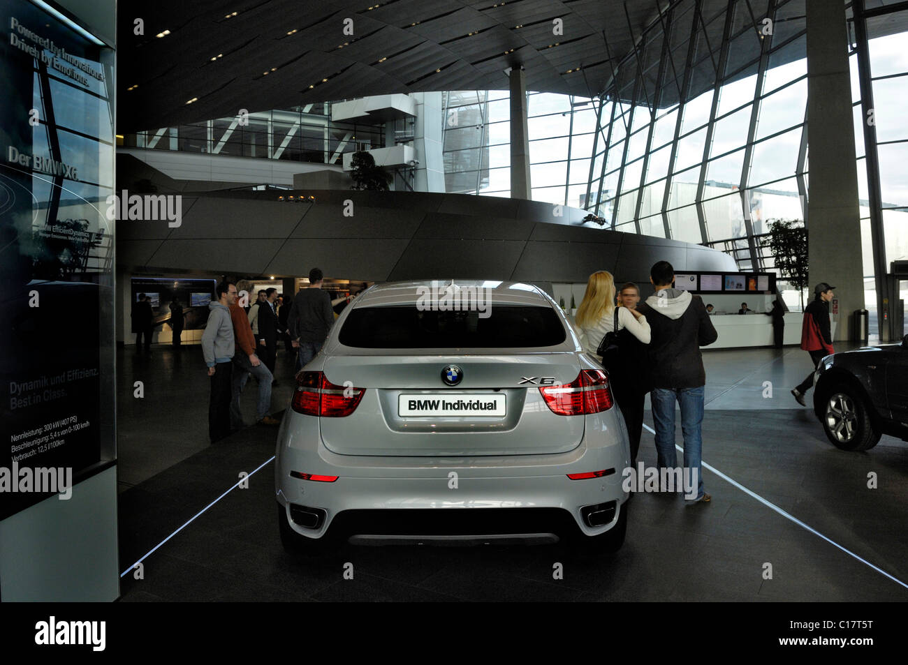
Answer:
<svg viewBox="0 0 908 665"><path fill-rule="evenodd" d="M658 467L676 468L675 402L681 406L681 433L684 435L685 468L696 469L696 498L703 490L703 396L704 386L696 388L653 388L649 401L653 406L653 424L656 425L656 453Z"/></svg>

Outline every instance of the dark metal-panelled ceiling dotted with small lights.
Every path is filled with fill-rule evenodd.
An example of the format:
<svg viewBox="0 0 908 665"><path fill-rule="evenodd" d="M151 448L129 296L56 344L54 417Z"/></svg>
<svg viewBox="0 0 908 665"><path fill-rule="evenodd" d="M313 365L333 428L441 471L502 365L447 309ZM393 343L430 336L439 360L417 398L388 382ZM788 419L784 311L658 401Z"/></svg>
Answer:
<svg viewBox="0 0 908 665"><path fill-rule="evenodd" d="M594 96L668 4L124 0L117 129L370 94L504 89L505 70L520 65L529 90ZM134 34L137 18L142 35Z"/></svg>

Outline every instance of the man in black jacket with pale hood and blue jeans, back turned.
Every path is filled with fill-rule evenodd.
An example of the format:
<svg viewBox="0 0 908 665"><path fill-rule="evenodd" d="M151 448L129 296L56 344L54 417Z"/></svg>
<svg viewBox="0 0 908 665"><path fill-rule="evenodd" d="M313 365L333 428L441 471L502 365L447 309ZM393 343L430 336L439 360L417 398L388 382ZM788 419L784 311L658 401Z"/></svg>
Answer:
<svg viewBox="0 0 908 665"><path fill-rule="evenodd" d="M674 288L675 269L659 261L649 271L656 293L646 298L637 311L646 315L650 328L649 378L653 386L649 400L656 426L657 465L674 469L675 402L681 406L681 431L684 435L684 465L687 473L696 471L696 501L708 502L703 488L702 449L704 386L706 369L700 347L719 337L703 300L689 291Z"/></svg>

